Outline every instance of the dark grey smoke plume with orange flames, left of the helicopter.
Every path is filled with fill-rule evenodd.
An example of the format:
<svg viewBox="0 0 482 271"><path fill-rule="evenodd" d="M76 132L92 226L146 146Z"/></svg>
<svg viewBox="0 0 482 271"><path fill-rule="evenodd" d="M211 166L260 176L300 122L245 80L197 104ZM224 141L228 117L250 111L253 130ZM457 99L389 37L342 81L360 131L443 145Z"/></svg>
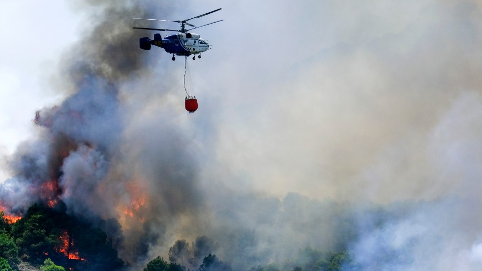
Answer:
<svg viewBox="0 0 482 271"><path fill-rule="evenodd" d="M149 79L152 68L137 48L139 33L130 18L152 17L152 6L74 5L87 11L90 29L64 53L57 85L71 94L59 106L37 112L41 138L12 157L15 175L1 183L0 205L22 214L36 202L53 207L62 201L69 214L116 219L123 227L121 256L135 265L151 246L164 242L167 225L195 219L202 206L196 166L173 126L152 132L155 138L143 133L151 126L136 127L141 134L135 138L126 132L129 112L122 93L129 91L123 88L138 76Z"/></svg>

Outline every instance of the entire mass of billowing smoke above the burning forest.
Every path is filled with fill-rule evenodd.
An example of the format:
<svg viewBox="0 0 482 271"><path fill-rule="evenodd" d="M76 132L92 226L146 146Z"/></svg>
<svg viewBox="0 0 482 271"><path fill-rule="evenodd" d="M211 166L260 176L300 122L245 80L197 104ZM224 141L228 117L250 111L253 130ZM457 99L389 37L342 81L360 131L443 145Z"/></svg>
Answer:
<svg viewBox="0 0 482 271"><path fill-rule="evenodd" d="M134 270L159 255L195 269L210 253L288 269L305 247L347 250L360 270L477 270L480 4L226 4L229 20L200 30L213 50L193 65L200 109L184 115L183 67L139 50L152 33L130 18L213 2L76 3L95 19L63 56L55 85L70 95L38 112L1 207L62 201L117 220Z"/></svg>

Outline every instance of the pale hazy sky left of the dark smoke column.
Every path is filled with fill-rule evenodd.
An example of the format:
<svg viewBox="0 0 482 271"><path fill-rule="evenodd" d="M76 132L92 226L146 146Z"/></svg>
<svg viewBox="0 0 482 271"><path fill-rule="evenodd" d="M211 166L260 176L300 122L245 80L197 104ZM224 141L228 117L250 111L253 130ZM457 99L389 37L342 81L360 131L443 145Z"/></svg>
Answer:
<svg viewBox="0 0 482 271"><path fill-rule="evenodd" d="M34 134L35 111L58 103L49 80L60 52L75 50L79 16L65 1L3 2L0 10L0 153L11 154ZM3 159L2 159L3 160ZM3 181L9 173L0 169Z"/></svg>

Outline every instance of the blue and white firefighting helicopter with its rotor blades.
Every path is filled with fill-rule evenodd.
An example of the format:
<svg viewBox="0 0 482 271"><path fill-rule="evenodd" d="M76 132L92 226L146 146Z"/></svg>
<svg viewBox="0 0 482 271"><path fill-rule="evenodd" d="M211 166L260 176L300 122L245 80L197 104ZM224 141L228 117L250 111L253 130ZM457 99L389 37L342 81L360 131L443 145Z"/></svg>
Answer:
<svg viewBox="0 0 482 271"><path fill-rule="evenodd" d="M218 10L221 10L221 8L218 8L216 10L201 14L196 17L192 17L190 19L186 20L181 20L181 21L172 21L172 20L159 20L159 19L146 19L146 18L132 18L135 20L151 20L151 21L164 21L164 22L176 22L181 24L181 29L180 30L171 30L171 29L157 29L157 28L142 28L142 27L133 27L133 29L145 29L145 30L158 30L158 31L175 31L175 32L180 32L179 34L173 34L173 35L168 35L164 39L162 39L161 34L156 33L154 34L154 39L151 40L149 37L143 37L139 39L139 47L144 50L151 50L151 45L155 45L157 47L164 48L166 52L169 54L172 54L172 60L176 60L174 57L175 55L177 56L185 56L186 58L189 57L190 55L194 55L192 57L193 60L196 59L196 55L199 54L198 58L201 58L201 53L204 53L208 51L209 44L205 39L202 39L199 34L194 34L194 33L189 33L187 31L204 27L207 25L211 25L214 23L218 23L224 20L219 20L216 22L212 22L206 25L202 25L199 27L196 27L194 25L191 25L187 23L187 21L192 20L192 19L197 19L201 18L203 16L206 16L208 14L211 14L213 12L216 12ZM186 25L193 27L191 29L186 30Z"/></svg>

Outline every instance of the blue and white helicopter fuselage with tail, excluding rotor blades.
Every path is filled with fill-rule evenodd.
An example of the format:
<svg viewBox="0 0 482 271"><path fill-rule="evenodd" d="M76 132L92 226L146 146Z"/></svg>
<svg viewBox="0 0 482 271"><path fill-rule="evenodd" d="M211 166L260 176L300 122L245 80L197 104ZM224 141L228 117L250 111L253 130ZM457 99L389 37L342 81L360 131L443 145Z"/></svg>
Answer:
<svg viewBox="0 0 482 271"><path fill-rule="evenodd" d="M179 33L161 38L160 34L154 34L154 39L148 37L140 39L140 47L150 50L151 45L163 48L167 53L178 56L190 56L209 50L209 44L199 34Z"/></svg>

